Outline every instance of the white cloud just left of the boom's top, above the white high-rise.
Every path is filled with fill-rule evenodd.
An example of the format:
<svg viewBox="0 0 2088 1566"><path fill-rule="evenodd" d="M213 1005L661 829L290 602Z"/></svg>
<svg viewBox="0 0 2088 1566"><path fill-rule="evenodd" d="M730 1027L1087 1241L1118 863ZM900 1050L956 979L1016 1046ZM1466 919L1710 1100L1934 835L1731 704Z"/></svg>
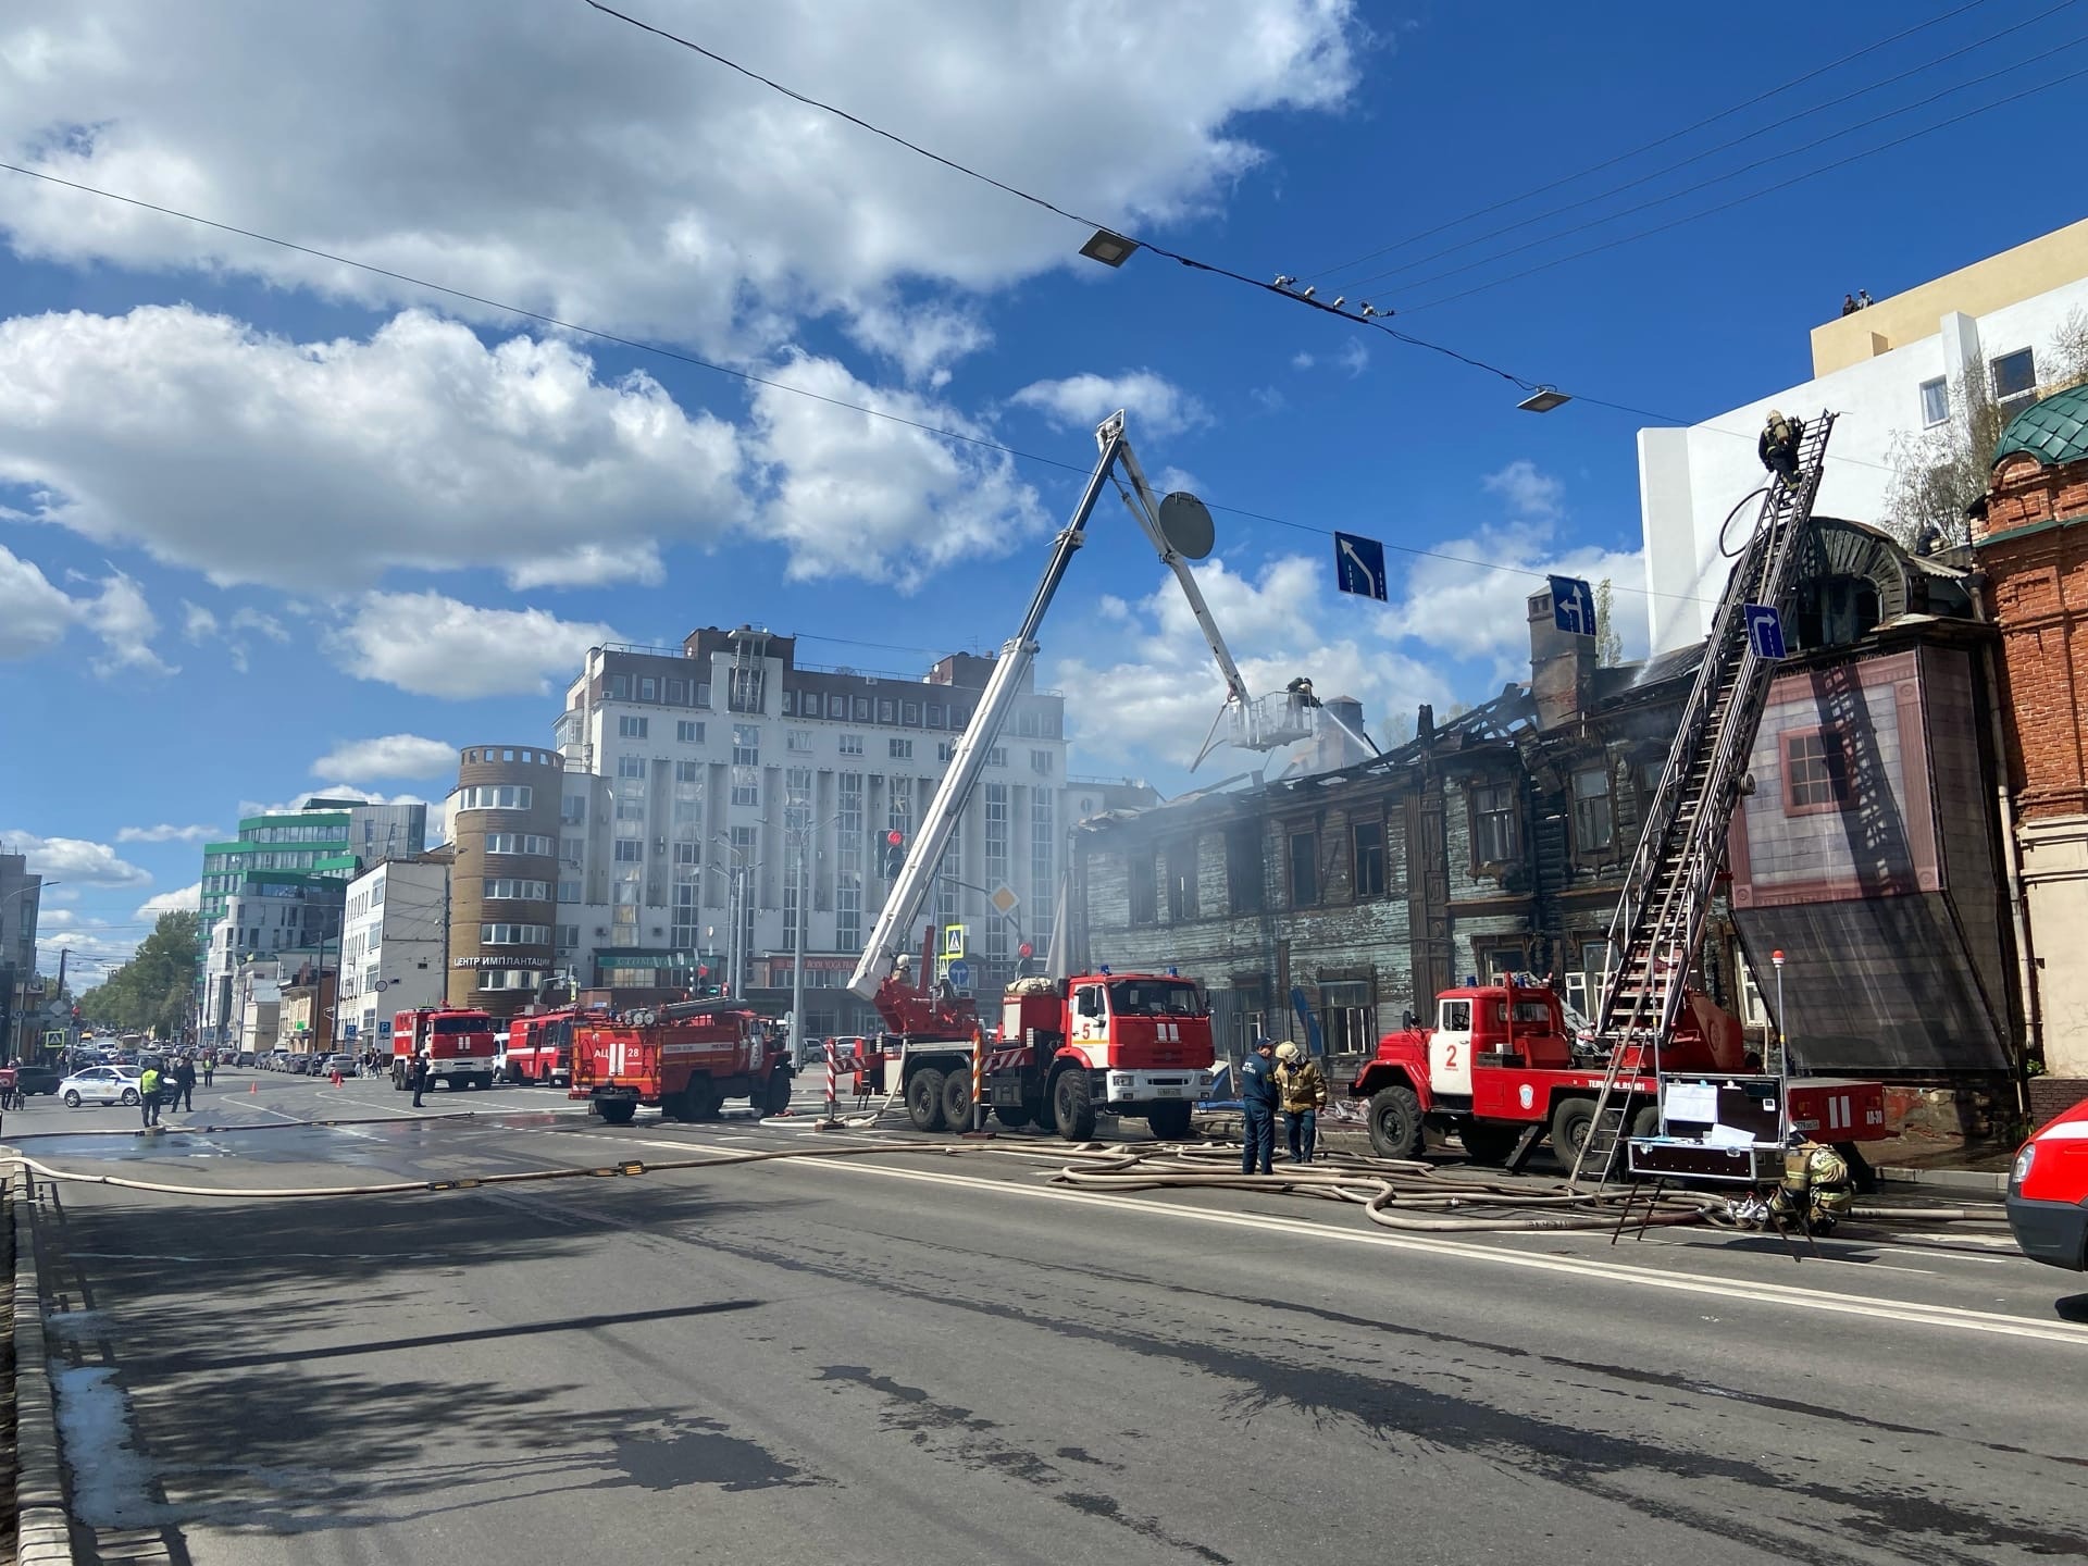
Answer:
<svg viewBox="0 0 2088 1566"><path fill-rule="evenodd" d="M800 357L787 380L919 424L986 434L948 405L864 386L833 359ZM768 480L760 526L789 547L796 580L867 576L910 591L952 560L1006 553L1044 524L1036 491L1000 451L770 386L754 393L754 428L750 445Z"/></svg>

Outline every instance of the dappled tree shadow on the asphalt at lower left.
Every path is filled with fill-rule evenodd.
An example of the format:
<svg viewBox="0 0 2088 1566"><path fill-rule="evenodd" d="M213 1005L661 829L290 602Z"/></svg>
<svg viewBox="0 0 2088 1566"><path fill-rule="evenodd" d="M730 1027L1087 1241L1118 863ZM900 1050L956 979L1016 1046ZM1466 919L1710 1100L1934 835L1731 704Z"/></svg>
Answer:
<svg viewBox="0 0 2088 1566"><path fill-rule="evenodd" d="M750 1203L664 1184L574 1182L585 1201L487 1192L342 1203L67 1203L44 1221L63 1357L117 1370L148 1466L180 1505L144 1495L121 1522L305 1533L455 1512L514 1493L649 1482L624 1462L683 1441L633 1389L560 1374L562 1340L748 1311L683 1297L651 1309L512 1322L480 1311L484 1267L601 1265L633 1244L731 1221ZM764 1211L768 1203L760 1205ZM516 1274L518 1305L526 1284ZM691 1280L689 1295L702 1292ZM401 1330L441 1326L443 1330ZM390 1330L386 1330L390 1328ZM457 1374L464 1345L509 1343L541 1380ZM342 1363L359 1359L361 1363ZM484 1363L478 1359L476 1363ZM603 1407L608 1403L608 1407ZM702 1430L714 1482L773 1464ZM725 1445L733 1449L727 1449ZM69 1464L94 1453L67 1453ZM702 1476L697 1476L699 1480ZM787 1476L785 1476L787 1478ZM86 1518L102 1522L106 1518Z"/></svg>

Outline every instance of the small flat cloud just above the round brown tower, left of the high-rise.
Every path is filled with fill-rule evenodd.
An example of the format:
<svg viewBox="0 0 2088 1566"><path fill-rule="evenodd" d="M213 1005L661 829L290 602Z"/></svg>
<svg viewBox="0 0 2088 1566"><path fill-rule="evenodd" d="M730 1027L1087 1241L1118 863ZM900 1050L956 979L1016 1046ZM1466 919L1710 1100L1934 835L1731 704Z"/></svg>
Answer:
<svg viewBox="0 0 2088 1566"><path fill-rule="evenodd" d="M355 679L464 702L543 695L566 683L589 647L618 641L606 624L545 610L480 610L441 593L365 593L328 633L334 662Z"/></svg>

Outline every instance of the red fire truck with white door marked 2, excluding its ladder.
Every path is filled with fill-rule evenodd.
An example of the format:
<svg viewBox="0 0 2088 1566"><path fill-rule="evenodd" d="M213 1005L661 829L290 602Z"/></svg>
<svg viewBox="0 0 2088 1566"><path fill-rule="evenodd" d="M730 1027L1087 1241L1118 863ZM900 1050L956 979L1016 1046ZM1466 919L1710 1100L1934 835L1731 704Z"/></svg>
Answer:
<svg viewBox="0 0 2088 1566"><path fill-rule="evenodd" d="M1645 1044L1627 1050L1610 1082L1610 1105L1631 1136L1660 1130L1660 1084ZM1660 1046L1660 1071L1752 1067L1739 1021L1689 990L1675 1031ZM1501 1163L1531 1125L1551 1134L1553 1155L1572 1165L1595 1125L1610 1063L1589 1054L1568 1027L1553 990L1537 979L1466 986L1437 996L1434 1027L1405 1027L1378 1040L1349 1092L1368 1098L1370 1146L1384 1159L1416 1159L1424 1128L1455 1130L1474 1163ZM1817 1142L1875 1142L1885 1136L1879 1082L1792 1079L1792 1128Z"/></svg>

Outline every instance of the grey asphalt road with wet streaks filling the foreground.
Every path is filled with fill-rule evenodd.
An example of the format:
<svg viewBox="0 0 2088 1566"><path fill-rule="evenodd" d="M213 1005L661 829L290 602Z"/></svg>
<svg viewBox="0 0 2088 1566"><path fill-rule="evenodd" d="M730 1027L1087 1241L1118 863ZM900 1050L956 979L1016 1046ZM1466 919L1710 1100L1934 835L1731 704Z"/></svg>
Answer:
<svg viewBox="0 0 2088 1566"><path fill-rule="evenodd" d="M1407 1236L1274 1192L1067 1190L1029 1134L948 1155L246 1082L184 1117L236 1130L8 1134L215 1190L877 1150L330 1201L61 1186L50 1322L111 1558L2088 1556L2088 1295L1975 1236L1800 1265L1693 1232ZM351 1113L386 1119L292 1123Z"/></svg>

